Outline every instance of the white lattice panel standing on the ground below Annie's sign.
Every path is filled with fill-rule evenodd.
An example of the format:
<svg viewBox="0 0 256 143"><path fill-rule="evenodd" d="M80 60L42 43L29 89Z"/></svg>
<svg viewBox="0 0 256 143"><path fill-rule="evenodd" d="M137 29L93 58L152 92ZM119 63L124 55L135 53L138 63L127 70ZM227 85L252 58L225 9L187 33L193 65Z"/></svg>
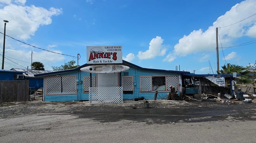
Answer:
<svg viewBox="0 0 256 143"><path fill-rule="evenodd" d="M90 87L90 104L123 103L123 87Z"/></svg>

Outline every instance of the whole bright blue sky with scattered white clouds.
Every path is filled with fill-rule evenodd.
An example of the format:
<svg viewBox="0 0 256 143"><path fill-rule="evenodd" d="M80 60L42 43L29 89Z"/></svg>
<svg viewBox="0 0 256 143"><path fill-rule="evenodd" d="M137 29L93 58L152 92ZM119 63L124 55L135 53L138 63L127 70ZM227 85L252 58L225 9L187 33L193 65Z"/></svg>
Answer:
<svg viewBox="0 0 256 143"><path fill-rule="evenodd" d="M217 27L220 69L256 61L256 0L0 0L2 33L3 20L5 70L31 59L52 70L78 54L83 65L86 46L122 45L137 66L215 74ZM0 33L1 66L2 54Z"/></svg>

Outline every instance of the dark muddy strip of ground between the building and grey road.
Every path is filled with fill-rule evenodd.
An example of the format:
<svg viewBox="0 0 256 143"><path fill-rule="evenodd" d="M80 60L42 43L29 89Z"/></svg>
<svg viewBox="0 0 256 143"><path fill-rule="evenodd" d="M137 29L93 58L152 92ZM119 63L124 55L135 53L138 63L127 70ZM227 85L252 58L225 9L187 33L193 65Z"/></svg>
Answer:
<svg viewBox="0 0 256 143"><path fill-rule="evenodd" d="M218 103L208 101L170 102L149 101L145 109L143 102L125 100L123 104L89 104L84 102L0 103L0 118L14 118L27 115L70 114L78 118L93 119L102 123L132 120L136 122L176 123L220 120L255 120L256 103ZM133 107L136 107L134 109Z"/></svg>

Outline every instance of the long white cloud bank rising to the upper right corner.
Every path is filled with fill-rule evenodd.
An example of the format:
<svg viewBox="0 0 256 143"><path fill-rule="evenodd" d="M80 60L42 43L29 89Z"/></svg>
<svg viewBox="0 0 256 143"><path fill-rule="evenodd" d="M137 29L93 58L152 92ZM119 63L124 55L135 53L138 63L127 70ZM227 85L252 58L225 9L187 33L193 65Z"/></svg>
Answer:
<svg viewBox="0 0 256 143"><path fill-rule="evenodd" d="M184 35L170 54L173 56L187 56L197 52L214 51L216 49L216 27L223 27L218 29L223 45L228 45L236 38L245 35L256 37L256 15L234 24L253 15L255 9L256 0L246 0L236 4L224 15L218 17L207 30L193 30L189 35ZM168 54L168 56L170 55Z"/></svg>

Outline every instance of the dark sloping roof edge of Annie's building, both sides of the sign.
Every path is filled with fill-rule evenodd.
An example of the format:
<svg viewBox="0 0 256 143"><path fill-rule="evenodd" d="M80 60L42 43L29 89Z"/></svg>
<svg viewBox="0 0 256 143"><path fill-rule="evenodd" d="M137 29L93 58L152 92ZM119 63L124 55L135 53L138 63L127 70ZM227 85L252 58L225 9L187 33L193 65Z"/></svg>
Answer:
<svg viewBox="0 0 256 143"><path fill-rule="evenodd" d="M187 72L187 71L171 71L171 70L164 70L164 69L148 69L148 68L137 66L137 65L132 64L130 62L127 62L125 60L123 60L123 64L127 64L128 66L135 67L135 68L141 69L141 70L147 70L147 71L173 72L173 73L181 73L181 74L190 74L190 72ZM40 73L40 74L35 74L35 76L49 76L49 75L54 75L54 74L61 74L61 73L65 73L65 72L71 72L71 71L80 70L81 68L86 67L86 66L90 66L90 65L91 64L83 64L83 65L81 65L79 67L76 67L74 69L67 69L67 70L62 70L62 71L53 71L53 72L47 72L47 73Z"/></svg>

